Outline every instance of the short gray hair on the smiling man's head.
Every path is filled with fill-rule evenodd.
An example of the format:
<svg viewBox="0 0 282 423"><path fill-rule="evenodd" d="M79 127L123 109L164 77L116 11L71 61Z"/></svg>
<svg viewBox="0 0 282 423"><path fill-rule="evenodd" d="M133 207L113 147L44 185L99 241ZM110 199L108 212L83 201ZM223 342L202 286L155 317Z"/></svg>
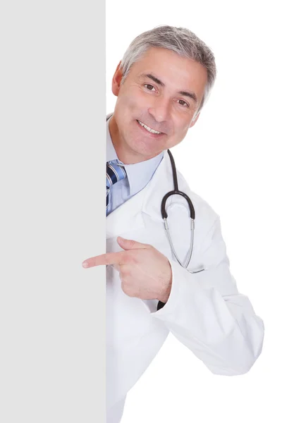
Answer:
<svg viewBox="0 0 282 423"><path fill-rule="evenodd" d="M201 63L202 66L207 69L207 85L204 90L202 102L197 110L197 114L199 114L214 85L214 80L216 79L216 63L212 50L209 49L194 32L186 28L168 25L155 27L152 30L142 32L142 34L138 35L133 39L133 42L131 42L130 46L125 51L121 61L121 68L123 71L121 83L123 83L128 76L133 63L140 60L143 54L151 47L161 47L172 50L180 56Z"/></svg>

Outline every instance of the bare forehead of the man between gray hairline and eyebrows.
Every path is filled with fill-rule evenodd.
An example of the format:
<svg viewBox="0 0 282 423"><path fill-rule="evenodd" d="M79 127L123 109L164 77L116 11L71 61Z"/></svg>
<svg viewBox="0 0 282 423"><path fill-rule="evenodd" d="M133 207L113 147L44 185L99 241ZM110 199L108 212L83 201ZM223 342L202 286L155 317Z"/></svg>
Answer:
<svg viewBox="0 0 282 423"><path fill-rule="evenodd" d="M177 90L204 90L207 83L207 69L192 59L182 57L174 51L152 47L130 68L133 78L152 73L167 87Z"/></svg>

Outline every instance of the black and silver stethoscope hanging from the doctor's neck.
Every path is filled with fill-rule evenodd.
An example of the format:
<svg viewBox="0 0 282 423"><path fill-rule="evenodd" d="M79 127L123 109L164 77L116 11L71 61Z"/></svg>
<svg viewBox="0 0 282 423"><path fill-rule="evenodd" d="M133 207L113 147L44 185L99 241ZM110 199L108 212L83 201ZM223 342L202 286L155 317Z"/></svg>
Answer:
<svg viewBox="0 0 282 423"><path fill-rule="evenodd" d="M111 116L108 116L108 118L106 120L108 120L110 117ZM161 217L164 220L164 229L166 231L166 236L168 238L168 243L171 246L171 252L173 253L173 256L176 258L176 260L178 261L180 266L182 266L184 269L186 269L190 274L197 274L197 273L200 273L200 271L204 271L205 269L200 269L200 270L195 270L195 271L191 271L191 270L188 269L188 266L189 266L189 263L190 263L191 257L192 257L193 247L194 247L195 209L194 209L194 206L192 204L190 197L188 197L188 195L185 194L185 192L178 190L178 179L177 179L177 173L176 173L176 164L175 164L175 161L173 159L173 155L171 154L169 149L167 150L167 152L168 152L169 158L171 159L171 169L172 169L172 174L173 174L174 190L167 192L167 194L164 195L163 199L161 200ZM118 166L124 166L123 164L117 164L117 165ZM189 207L189 210L190 210L191 241L190 241L190 248L189 248L189 252L188 252L188 258L186 259L185 263L181 262L180 258L176 254L176 249L173 246L173 242L171 240L171 234L169 233L168 222L167 222L168 214L166 213L166 200L168 199L168 197L171 197L171 195L181 195L182 197L184 197L185 200L188 202L188 207ZM164 307L164 304L165 304L164 302L159 301L159 303L157 305L157 310L159 310L161 307Z"/></svg>

